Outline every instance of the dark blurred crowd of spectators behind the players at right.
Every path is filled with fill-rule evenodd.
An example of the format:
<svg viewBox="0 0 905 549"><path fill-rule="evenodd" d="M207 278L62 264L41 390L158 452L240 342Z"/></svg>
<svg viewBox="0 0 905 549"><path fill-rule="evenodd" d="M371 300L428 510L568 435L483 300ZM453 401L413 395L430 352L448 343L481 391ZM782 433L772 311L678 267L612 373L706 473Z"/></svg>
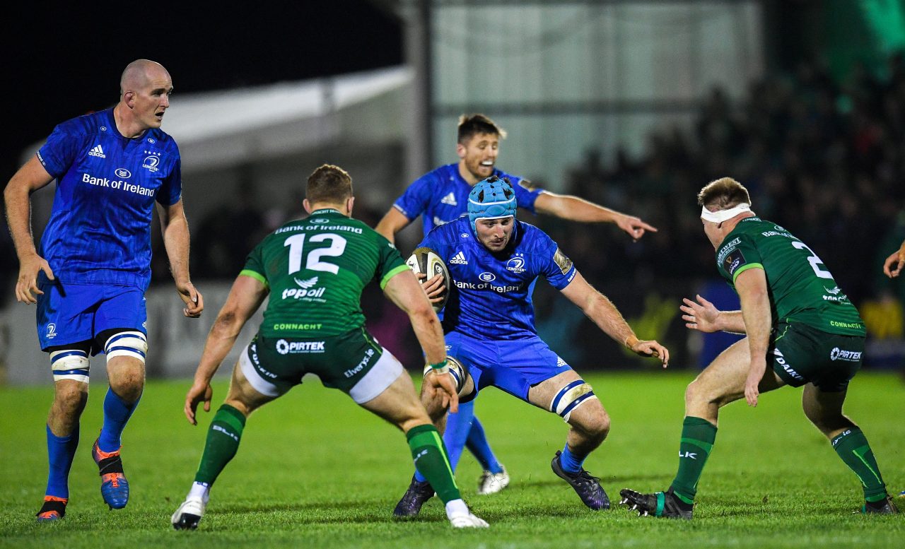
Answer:
<svg viewBox="0 0 905 549"><path fill-rule="evenodd" d="M886 74L859 69L842 84L805 63L752 83L738 104L714 89L691 132L654 134L643 158L620 153L614 166L591 151L568 175L569 193L660 232L632 243L612 227L558 229L595 279L655 289L711 277L696 194L725 175L748 187L758 215L805 241L856 305L875 297L887 288L881 258L905 237L905 57L892 56Z"/></svg>

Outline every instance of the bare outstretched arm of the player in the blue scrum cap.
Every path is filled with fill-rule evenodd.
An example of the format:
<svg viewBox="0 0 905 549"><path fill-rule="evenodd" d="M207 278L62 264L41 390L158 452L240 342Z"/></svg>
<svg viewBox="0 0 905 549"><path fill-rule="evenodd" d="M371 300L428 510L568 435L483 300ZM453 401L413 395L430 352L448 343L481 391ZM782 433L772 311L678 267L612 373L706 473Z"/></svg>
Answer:
<svg viewBox="0 0 905 549"><path fill-rule="evenodd" d="M664 368L669 364L669 349L653 339L638 339L613 302L588 284L580 272L576 271L575 278L569 282L566 288L562 289L562 293L569 301L575 303L588 318L593 320L607 336L625 345L637 355L659 358Z"/></svg>

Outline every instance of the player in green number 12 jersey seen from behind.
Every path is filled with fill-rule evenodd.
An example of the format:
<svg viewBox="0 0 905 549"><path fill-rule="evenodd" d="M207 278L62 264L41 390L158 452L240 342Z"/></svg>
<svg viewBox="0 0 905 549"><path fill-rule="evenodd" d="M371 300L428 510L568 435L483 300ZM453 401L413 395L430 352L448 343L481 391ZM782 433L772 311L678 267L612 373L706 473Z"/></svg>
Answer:
<svg viewBox="0 0 905 549"><path fill-rule="evenodd" d="M270 295L257 336L240 354L223 406L207 432L205 450L186 501L173 526L195 529L205 513L211 486L236 450L246 418L263 404L317 374L360 406L405 432L415 467L443 499L454 527L484 527L462 501L437 430L402 364L365 329L361 291L372 279L408 314L428 363L438 375L425 389L458 407L452 376L445 375L440 320L414 273L383 236L351 219L352 179L337 166L320 166L308 178L305 210L310 215L271 232L249 254L207 336L195 383L186 394L186 418L204 402L210 411L211 378L245 322ZM434 381L436 380L436 381Z"/></svg>

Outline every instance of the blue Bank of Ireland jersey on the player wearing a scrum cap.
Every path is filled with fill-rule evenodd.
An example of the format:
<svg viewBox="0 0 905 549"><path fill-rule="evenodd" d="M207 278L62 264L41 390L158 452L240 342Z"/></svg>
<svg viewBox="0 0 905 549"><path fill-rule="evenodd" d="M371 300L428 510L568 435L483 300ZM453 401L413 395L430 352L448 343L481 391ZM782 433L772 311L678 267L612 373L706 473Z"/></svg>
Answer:
<svg viewBox="0 0 905 549"><path fill-rule="evenodd" d="M468 217L434 229L419 246L436 251L450 271L443 331L479 339L537 337L531 293L538 277L564 289L576 270L547 233L514 220L509 246L491 253L475 237Z"/></svg>

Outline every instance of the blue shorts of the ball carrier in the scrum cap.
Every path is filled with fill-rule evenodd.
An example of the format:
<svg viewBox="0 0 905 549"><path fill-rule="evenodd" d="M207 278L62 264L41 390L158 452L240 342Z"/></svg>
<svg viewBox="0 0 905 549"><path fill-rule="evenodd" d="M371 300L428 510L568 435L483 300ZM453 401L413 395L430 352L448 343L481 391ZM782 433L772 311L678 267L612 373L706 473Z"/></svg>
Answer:
<svg viewBox="0 0 905 549"><path fill-rule="evenodd" d="M475 392L462 402L474 400L488 386L528 402L532 385L572 369L538 336L488 341L450 332L446 334L446 353L467 365L474 380Z"/></svg>

